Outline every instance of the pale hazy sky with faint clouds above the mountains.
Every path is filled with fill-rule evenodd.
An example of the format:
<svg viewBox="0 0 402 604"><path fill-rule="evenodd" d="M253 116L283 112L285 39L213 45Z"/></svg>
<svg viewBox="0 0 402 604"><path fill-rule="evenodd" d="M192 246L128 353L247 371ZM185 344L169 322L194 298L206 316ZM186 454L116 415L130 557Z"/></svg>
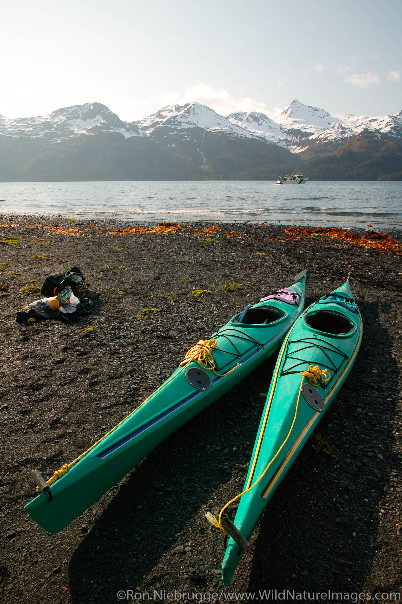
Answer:
<svg viewBox="0 0 402 604"><path fill-rule="evenodd" d="M270 117L402 109L401 0L8 0L0 114L86 101L136 120L197 100Z"/></svg>

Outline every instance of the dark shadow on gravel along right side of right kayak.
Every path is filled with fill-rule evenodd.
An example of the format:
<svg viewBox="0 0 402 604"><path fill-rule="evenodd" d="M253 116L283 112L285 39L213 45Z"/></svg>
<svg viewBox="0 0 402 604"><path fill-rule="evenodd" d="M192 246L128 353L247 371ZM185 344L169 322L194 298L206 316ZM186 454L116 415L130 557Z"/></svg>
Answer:
<svg viewBox="0 0 402 604"><path fill-rule="evenodd" d="M359 355L314 432L322 439L313 434L266 508L248 554L251 592L349 593L363 585L373 593L398 591L396 575L375 585L367 580L380 547L389 478L401 465L392 451L399 371L379 318L379 311L388 314L391 306L359 301L359 307L364 328ZM320 442L329 443L331 455L317 446ZM269 600L275 597L270 594Z"/></svg>

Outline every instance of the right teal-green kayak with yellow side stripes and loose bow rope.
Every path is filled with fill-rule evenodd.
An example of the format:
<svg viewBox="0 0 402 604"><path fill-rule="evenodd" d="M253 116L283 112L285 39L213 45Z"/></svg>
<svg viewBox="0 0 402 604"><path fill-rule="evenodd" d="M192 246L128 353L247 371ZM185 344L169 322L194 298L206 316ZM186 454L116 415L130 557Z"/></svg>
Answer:
<svg viewBox="0 0 402 604"><path fill-rule="evenodd" d="M362 333L362 317L348 278L340 288L308 307L287 334L233 523L241 534L231 533L236 541L230 537L225 551L223 585L229 585L241 550L247 547L247 539L276 487L342 387L359 351ZM225 524L222 512L219 523Z"/></svg>

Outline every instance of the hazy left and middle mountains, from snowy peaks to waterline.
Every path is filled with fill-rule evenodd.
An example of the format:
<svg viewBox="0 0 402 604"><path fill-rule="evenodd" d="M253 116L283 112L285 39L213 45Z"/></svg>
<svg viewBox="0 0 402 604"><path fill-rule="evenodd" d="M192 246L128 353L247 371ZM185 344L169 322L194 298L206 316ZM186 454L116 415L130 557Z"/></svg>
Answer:
<svg viewBox="0 0 402 604"><path fill-rule="evenodd" d="M132 123L100 103L0 117L0 181L246 178L295 161L200 103L173 104Z"/></svg>

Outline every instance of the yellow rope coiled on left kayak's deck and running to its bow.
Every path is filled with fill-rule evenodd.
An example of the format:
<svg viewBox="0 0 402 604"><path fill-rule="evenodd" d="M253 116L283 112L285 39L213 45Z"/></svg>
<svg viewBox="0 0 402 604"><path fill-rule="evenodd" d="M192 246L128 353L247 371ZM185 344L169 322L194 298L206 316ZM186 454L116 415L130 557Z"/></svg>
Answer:
<svg viewBox="0 0 402 604"><path fill-rule="evenodd" d="M141 405L138 405L138 407L136 407L136 409L134 411L129 413L129 415L127 417L124 417L124 419L121 420L121 422L119 422L116 426L114 426L114 428L109 430L109 432L104 434L101 439L97 440L97 442L94 443L94 445L90 446L89 449L86 449L86 451L81 453L81 455L78 455L78 457L75 458L75 460L71 461L71 463L65 463L62 467L60 467L59 470L56 470L56 472L54 472L53 476L51 478L49 478L49 480L47 480L46 483L49 486L51 486L51 484L55 483L56 480L58 480L59 478L61 478L65 474L67 474L67 472L72 468L72 466L74 466L78 461L80 461L83 457L85 457L86 454L88 454L90 451L92 451L92 449L94 449L97 445L99 445L99 443L101 443L104 439L106 439L106 437L109 436L109 434L112 434L112 432L115 431L116 428L121 426L121 424L123 422L125 422L127 419L129 419L129 417L131 417L139 409L141 409L142 405L145 405L145 403L151 397L153 397L157 392L159 392L159 390L161 390L161 388L164 388L169 382L171 382L173 380L174 377L179 375L179 373L181 373L183 371L183 369L185 368L185 366L188 365L188 363L190 363L191 361L198 361L200 367L202 367L203 369L211 369L214 372L215 376L219 376L219 377L227 376L229 373L231 373L231 371L234 371L238 367L238 364L237 364L237 365L235 365L235 367L232 367L231 370L226 371L226 373L222 373L222 374L217 373L215 371L214 357L212 356L212 350L214 348L216 348L216 340L214 340L214 339L199 340L199 342L197 342L197 344L194 345L193 348L191 348L187 352L185 358L179 365L179 367L181 367L181 369L179 371L177 371L177 373L174 373L173 376L171 376L166 382L164 382L164 384L159 386L159 388L156 388L156 390L153 391L153 393L150 394L150 396L148 396L147 399L142 401ZM36 491L38 493L40 493L39 487L36 487Z"/></svg>

